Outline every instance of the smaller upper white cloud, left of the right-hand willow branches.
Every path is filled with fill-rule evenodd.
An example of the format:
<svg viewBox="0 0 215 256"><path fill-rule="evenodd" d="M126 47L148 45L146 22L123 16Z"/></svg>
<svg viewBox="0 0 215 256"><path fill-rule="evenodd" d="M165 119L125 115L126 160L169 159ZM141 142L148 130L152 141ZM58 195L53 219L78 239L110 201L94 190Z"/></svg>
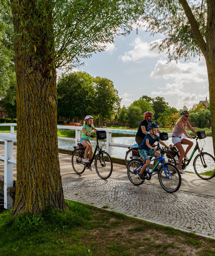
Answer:
<svg viewBox="0 0 215 256"><path fill-rule="evenodd" d="M160 41L160 39L156 41ZM136 61L144 57L157 57L158 49L155 48L152 50L153 46L150 46L150 44L153 44L156 41L152 41L150 43L142 42L141 38L137 37L131 44L131 46L133 46L133 49L129 52L125 52L125 55L119 56L119 59L121 59L123 62L128 62Z"/></svg>

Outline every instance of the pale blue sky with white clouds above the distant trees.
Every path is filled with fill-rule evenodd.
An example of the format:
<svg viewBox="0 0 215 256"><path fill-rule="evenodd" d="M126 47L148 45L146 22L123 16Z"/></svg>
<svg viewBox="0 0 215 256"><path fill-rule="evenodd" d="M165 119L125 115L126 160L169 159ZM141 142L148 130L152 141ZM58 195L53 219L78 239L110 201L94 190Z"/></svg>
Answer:
<svg viewBox="0 0 215 256"><path fill-rule="evenodd" d="M107 45L102 53L93 53L85 65L74 71L86 71L92 76L110 79L122 98L122 105L129 106L142 95L164 97L171 107L209 100L206 64L203 57L184 62L167 63L165 54L151 50L150 43L162 39L150 36L143 30L128 36L118 36L115 44Z"/></svg>

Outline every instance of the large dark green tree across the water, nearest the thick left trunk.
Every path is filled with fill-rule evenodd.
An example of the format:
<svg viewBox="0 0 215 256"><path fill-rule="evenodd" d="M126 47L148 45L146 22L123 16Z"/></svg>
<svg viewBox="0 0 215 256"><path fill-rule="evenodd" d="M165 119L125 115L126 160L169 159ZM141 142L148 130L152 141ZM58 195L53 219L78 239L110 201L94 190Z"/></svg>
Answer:
<svg viewBox="0 0 215 256"><path fill-rule="evenodd" d="M58 116L79 120L92 113L93 77L86 72L62 75L57 84Z"/></svg>

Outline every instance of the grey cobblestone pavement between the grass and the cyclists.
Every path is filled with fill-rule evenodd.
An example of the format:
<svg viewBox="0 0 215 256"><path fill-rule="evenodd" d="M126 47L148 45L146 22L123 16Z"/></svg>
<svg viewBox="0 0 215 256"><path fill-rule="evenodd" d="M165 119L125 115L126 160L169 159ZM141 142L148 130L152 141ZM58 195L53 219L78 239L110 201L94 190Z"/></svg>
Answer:
<svg viewBox="0 0 215 256"><path fill-rule="evenodd" d="M93 178L63 183L67 199L215 239L215 198L153 185Z"/></svg>

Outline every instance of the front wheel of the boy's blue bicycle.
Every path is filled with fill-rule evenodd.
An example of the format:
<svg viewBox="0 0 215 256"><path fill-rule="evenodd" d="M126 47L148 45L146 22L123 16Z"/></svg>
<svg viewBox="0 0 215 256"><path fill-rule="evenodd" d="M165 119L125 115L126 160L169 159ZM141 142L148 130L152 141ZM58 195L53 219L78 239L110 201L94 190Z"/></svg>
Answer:
<svg viewBox="0 0 215 256"><path fill-rule="evenodd" d="M165 166L165 174L163 166L160 167L159 173L158 173L158 179L160 182L161 187L170 193L176 192L182 183L182 177L181 174L173 164L171 163L164 163ZM171 175L170 175L171 174Z"/></svg>

